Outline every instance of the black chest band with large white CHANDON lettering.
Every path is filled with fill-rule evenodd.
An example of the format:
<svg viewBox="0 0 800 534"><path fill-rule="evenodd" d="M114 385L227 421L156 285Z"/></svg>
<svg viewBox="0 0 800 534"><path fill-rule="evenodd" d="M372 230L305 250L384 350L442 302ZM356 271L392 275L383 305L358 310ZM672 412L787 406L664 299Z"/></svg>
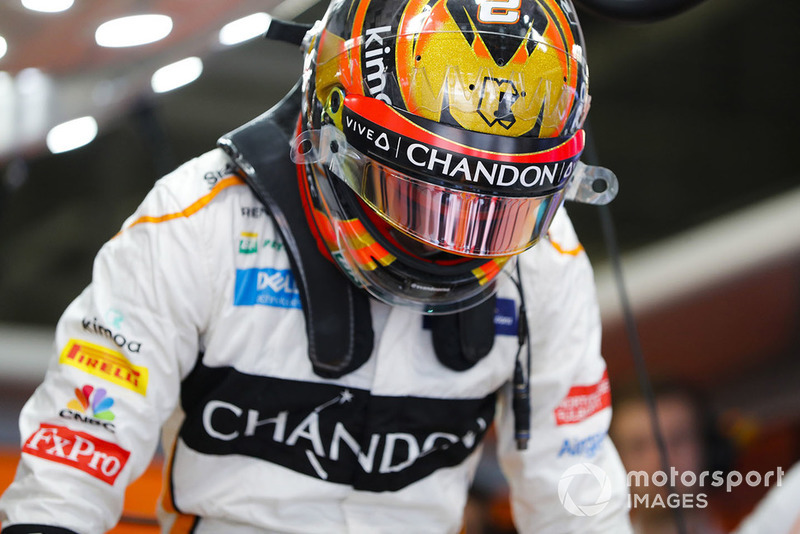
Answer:
<svg viewBox="0 0 800 534"><path fill-rule="evenodd" d="M213 390L201 393L208 385ZM192 449L261 458L367 491L398 490L461 463L483 438L495 405L494 395L381 397L202 364L184 388L181 437Z"/></svg>

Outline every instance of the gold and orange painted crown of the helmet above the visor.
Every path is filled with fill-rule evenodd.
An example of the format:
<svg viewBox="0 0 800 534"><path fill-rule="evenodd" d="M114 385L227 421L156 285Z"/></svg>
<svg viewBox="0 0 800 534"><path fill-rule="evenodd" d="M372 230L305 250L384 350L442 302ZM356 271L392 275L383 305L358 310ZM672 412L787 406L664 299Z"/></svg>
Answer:
<svg viewBox="0 0 800 534"><path fill-rule="evenodd" d="M569 2L340 4L352 20L329 18L320 36L321 102L338 85L483 133L555 137L580 126L588 70Z"/></svg>

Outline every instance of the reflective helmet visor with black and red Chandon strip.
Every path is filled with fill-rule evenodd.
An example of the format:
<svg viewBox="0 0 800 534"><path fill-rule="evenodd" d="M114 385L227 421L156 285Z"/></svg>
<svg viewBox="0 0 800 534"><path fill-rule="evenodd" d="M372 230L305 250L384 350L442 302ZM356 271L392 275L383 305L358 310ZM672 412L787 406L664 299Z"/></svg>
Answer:
<svg viewBox="0 0 800 534"><path fill-rule="evenodd" d="M420 123L348 96L337 117L295 140L293 157L326 164L389 224L466 256L522 252L547 232L583 149ZM377 120L382 123L378 124Z"/></svg>

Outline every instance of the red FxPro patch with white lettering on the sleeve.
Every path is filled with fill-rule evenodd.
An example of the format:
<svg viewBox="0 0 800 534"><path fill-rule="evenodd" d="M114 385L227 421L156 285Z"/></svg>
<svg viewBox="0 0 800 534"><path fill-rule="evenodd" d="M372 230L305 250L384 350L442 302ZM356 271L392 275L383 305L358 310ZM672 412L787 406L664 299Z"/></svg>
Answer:
<svg viewBox="0 0 800 534"><path fill-rule="evenodd" d="M28 438L22 452L79 469L111 485L130 456L119 445L91 434L45 423Z"/></svg>

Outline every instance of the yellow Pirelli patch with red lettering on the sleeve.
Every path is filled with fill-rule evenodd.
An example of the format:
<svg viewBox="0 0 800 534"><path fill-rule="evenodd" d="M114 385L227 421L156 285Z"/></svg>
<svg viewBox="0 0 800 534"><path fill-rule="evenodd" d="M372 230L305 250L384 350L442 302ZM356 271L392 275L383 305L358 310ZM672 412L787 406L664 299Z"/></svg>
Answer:
<svg viewBox="0 0 800 534"><path fill-rule="evenodd" d="M115 350L70 339L58 361L140 395L147 394L147 368L133 365Z"/></svg>

